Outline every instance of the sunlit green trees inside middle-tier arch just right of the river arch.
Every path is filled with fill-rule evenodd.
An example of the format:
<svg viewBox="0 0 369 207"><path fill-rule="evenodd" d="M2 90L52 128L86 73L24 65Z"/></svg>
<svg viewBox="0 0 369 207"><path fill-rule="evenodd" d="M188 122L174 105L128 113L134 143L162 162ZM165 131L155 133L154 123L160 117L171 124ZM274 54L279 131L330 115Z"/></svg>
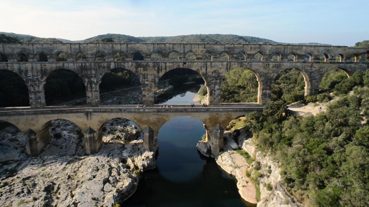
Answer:
<svg viewBox="0 0 369 207"><path fill-rule="evenodd" d="M251 70L237 68L225 76L220 86L223 103L257 102L258 81Z"/></svg>

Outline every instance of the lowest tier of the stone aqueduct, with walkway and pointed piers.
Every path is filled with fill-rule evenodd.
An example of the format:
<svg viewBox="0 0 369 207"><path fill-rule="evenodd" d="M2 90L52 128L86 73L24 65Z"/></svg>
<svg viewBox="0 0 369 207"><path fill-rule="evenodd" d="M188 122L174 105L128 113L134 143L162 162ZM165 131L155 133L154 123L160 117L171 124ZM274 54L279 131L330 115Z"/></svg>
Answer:
<svg viewBox="0 0 369 207"><path fill-rule="evenodd" d="M263 107L206 107L206 108L70 108L23 109L0 111L0 120L14 124L24 133L27 153L39 154L49 143L49 127L52 120L65 119L76 124L85 135L86 153L93 154L102 144L103 124L114 118L131 120L144 130L144 143L148 150L155 150L155 139L163 124L178 116L191 116L203 122L208 129L227 127L228 123ZM149 127L149 128L148 128ZM145 138L146 137L146 138ZM223 146L219 138L211 135L213 148ZM217 144L218 143L218 144ZM218 147L217 147L218 146ZM216 151L216 150L215 150ZM214 151L214 152L215 152Z"/></svg>

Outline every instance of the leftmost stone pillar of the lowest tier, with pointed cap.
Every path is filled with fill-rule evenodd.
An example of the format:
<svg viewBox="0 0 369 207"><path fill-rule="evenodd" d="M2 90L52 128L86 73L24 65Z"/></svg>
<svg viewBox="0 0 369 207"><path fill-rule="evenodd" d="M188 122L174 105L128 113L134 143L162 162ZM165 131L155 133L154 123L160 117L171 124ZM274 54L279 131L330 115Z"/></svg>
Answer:
<svg viewBox="0 0 369 207"><path fill-rule="evenodd" d="M24 137L27 154L38 155L50 142L49 127L45 127L39 133L32 129L28 129L24 132Z"/></svg>

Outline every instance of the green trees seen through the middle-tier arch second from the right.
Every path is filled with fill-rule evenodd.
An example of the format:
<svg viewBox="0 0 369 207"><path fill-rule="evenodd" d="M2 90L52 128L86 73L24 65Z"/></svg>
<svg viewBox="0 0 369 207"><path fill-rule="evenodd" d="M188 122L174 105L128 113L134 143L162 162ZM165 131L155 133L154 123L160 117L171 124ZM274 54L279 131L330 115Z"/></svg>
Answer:
<svg viewBox="0 0 369 207"><path fill-rule="evenodd" d="M293 103L304 99L305 81L297 69L287 69L280 72L272 85L272 100L282 99Z"/></svg>

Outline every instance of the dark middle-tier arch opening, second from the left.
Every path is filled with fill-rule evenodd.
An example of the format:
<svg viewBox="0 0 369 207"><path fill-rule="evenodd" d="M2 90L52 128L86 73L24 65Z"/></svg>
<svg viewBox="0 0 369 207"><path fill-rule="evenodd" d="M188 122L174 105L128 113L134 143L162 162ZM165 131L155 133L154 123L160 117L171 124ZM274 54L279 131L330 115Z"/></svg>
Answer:
<svg viewBox="0 0 369 207"><path fill-rule="evenodd" d="M42 83L45 102L48 105L64 105L82 99L77 105L86 102L86 86L82 77L75 71L65 68L53 69L45 74Z"/></svg>

